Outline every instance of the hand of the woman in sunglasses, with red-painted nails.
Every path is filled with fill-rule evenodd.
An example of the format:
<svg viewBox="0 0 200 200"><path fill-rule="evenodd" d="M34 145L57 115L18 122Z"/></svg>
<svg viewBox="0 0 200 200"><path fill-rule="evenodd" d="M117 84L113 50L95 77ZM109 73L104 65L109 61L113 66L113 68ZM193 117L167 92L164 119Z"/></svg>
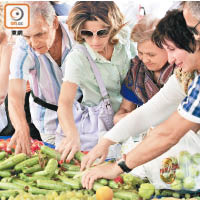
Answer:
<svg viewBox="0 0 200 200"><path fill-rule="evenodd" d="M65 137L59 147L58 152L61 154L61 160L70 162L77 151L80 151L79 137Z"/></svg>

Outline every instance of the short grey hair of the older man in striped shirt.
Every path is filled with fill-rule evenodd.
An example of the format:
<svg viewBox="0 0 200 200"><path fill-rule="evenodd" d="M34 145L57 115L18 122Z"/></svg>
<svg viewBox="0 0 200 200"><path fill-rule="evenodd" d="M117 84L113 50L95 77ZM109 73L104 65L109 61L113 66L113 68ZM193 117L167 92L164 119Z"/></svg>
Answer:
<svg viewBox="0 0 200 200"><path fill-rule="evenodd" d="M49 1L26 1L30 5L30 17L41 15L52 26L56 13Z"/></svg>

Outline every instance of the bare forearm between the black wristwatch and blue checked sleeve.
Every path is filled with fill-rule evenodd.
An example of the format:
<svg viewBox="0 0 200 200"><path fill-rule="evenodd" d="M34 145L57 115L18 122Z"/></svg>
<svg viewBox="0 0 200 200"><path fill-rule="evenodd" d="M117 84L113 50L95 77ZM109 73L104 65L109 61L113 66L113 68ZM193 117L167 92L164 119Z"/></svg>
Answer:
<svg viewBox="0 0 200 200"><path fill-rule="evenodd" d="M181 124L181 126L177 126L177 124ZM154 128L150 135L127 154L127 166L133 169L160 156L174 146L190 129L198 126L183 119L175 112L168 120Z"/></svg>

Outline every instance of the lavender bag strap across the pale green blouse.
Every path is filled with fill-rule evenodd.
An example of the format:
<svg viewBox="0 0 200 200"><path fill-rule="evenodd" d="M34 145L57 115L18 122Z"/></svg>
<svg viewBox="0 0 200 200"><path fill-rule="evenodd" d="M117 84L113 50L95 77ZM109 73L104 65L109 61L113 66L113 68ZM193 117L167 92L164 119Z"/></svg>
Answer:
<svg viewBox="0 0 200 200"><path fill-rule="evenodd" d="M91 68L92 68L92 71L94 72L95 78L97 80L97 84L99 86L99 89L100 89L102 97L103 98L109 98L109 95L108 95L108 92L107 92L106 87L104 85L104 82L102 80L101 74L100 74L100 72L99 72L99 70L98 70L98 68L96 66L96 63L94 62L94 60L90 56L89 52L87 51L86 47L83 46L83 45L77 44L75 46L75 48L81 49L82 52L85 54L85 56L88 58L89 63L90 63Z"/></svg>

